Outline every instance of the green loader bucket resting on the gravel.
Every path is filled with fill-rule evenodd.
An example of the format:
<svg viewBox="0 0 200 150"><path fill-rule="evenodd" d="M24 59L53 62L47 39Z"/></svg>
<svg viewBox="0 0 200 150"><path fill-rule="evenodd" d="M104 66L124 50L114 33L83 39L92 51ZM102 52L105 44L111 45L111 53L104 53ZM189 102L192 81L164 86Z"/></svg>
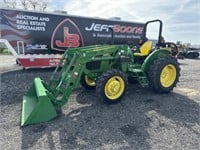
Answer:
<svg viewBox="0 0 200 150"><path fill-rule="evenodd" d="M57 116L46 91L42 80L35 78L33 85L23 96L21 126L49 121Z"/></svg>

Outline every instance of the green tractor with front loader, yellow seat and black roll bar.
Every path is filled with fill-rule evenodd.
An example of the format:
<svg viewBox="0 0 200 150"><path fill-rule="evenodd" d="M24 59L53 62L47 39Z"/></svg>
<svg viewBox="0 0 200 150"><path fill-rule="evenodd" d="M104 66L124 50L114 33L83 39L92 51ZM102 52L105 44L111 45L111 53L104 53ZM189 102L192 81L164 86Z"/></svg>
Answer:
<svg viewBox="0 0 200 150"><path fill-rule="evenodd" d="M162 22L149 21L144 26L159 22L158 45L161 42ZM49 83L35 78L23 97L21 126L46 122L57 116L71 92L79 83L96 90L101 100L116 103L122 99L128 78L134 77L142 87L157 93L168 93L176 86L180 67L165 48L153 50L152 41L146 41L139 52L128 45L94 45L72 48L65 52Z"/></svg>

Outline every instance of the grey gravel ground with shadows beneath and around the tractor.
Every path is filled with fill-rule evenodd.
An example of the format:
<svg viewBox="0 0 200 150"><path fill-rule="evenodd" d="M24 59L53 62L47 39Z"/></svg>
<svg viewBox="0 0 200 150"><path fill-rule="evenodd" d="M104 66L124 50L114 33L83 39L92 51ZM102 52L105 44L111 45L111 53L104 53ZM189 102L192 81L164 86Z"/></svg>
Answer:
<svg viewBox="0 0 200 150"><path fill-rule="evenodd" d="M22 96L34 77L48 81L53 70L18 68L5 72L3 69L0 147L3 150L198 150L200 60L179 62L180 82L170 94L158 95L130 84L121 103L106 105L96 98L95 92L78 88L59 117L23 128L19 126Z"/></svg>

